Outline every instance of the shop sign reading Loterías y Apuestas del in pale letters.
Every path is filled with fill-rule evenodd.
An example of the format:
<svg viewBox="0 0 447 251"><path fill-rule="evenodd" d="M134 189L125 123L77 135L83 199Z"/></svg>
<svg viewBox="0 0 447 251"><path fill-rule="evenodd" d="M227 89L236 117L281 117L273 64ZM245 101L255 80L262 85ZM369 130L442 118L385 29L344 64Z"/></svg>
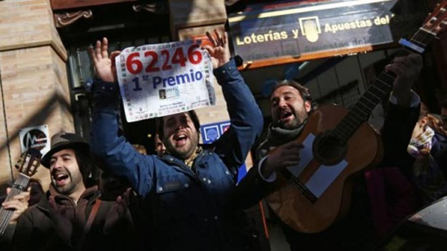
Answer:
<svg viewBox="0 0 447 251"><path fill-rule="evenodd" d="M395 16L397 2L327 1L241 13L229 17L231 38L245 62L388 44L413 33L424 15Z"/></svg>

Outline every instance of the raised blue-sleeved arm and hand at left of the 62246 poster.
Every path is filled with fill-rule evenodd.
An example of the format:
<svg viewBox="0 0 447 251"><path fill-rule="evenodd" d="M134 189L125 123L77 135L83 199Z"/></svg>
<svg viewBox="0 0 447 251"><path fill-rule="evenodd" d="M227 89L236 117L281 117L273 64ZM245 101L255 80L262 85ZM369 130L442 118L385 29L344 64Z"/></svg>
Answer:
<svg viewBox="0 0 447 251"><path fill-rule="evenodd" d="M90 48L93 65L100 81L93 84L93 115L90 135L90 150L106 168L115 175L125 177L135 191L147 194L151 188L153 158L143 156L125 140L118 136L119 87L116 83L115 57L109 56L108 41L97 41Z"/></svg>

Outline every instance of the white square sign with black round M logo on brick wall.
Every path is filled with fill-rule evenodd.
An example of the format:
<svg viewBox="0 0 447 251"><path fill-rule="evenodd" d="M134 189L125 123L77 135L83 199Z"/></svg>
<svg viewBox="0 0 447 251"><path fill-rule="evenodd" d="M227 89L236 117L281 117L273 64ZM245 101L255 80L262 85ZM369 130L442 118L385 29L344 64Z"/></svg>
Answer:
<svg viewBox="0 0 447 251"><path fill-rule="evenodd" d="M47 125L27 127L20 130L20 148L24 153L28 148L39 150L42 155L50 150L50 137Z"/></svg>

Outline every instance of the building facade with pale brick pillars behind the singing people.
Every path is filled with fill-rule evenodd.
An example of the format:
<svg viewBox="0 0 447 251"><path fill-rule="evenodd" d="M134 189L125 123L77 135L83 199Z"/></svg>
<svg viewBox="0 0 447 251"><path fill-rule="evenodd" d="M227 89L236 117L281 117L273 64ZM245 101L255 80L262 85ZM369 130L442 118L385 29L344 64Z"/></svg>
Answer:
<svg viewBox="0 0 447 251"><path fill-rule="evenodd" d="M228 30L229 26L233 29L231 20L230 25L227 23L228 17L242 20L240 16L257 13L259 17L252 20L265 20L262 19L263 13L277 12L277 8L289 10L337 2L340 1L0 1L0 163L3 163L0 184L11 183L17 176L14 163L24 145L49 144L50 139L45 135L24 135L26 128L41 126L49 135L66 131L88 138L89 87L94 71L87 48L96 40L108 37L111 50L114 50L197 39L203 38L207 30ZM405 4L404 0L400 2ZM425 9L421 11L428 13L436 1L422 2ZM436 92L430 90L447 93L447 79L442 74L447 66L447 40L445 35L440 37L429 50L431 56L426 59L428 65L423 74L430 81L424 83L425 87L422 84L418 86L423 100L434 111L439 107L433 101L437 98ZM251 41L250 38L245 42L239 38L238 44L233 38L232 49L237 51L238 45ZM267 89L274 81L297 79L321 102L350 106L368 88L369 79L377 74L380 62L389 59L396 47L396 43L389 43L385 47L337 53L320 48L315 49L320 53L318 55L304 53L305 56L291 56L286 60L248 60L241 70L263 110L265 124L268 124ZM202 124L228 121L225 101L219 87L215 85L215 88L217 105L197 111ZM123 120L122 127L124 135L132 142L152 151L153 121L126 123ZM251 166L251 158L246 166ZM48 186L49 176L44 168L36 177L42 180L45 188Z"/></svg>

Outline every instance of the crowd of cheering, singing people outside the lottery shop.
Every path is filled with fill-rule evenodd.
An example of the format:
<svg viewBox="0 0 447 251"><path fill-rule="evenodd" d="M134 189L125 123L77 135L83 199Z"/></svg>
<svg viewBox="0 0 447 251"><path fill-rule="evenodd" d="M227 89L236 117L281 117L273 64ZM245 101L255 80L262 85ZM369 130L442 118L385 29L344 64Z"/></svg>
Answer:
<svg viewBox="0 0 447 251"><path fill-rule="evenodd" d="M272 123L260 139L263 115L230 56L227 33L207 33L204 49L222 87L230 128L201 145L195 111L156 119L156 155L118 134L119 87L108 41L90 54L98 75L92 87L90 142L57 133L41 161L51 177L45 193L25 191L2 206L14 210L2 245L11 250L260 250L244 209L275 191L277 173L300 162L295 139L315 110L309 90L278 82L270 96ZM302 233L277 218L291 250L370 250L401 219L447 193L447 104L441 115L420 112L411 90L422 57L395 58L395 75L381 128L384 158L353 177L346 216L319 233ZM444 110L445 109L445 110ZM238 168L256 140L254 166L237 183ZM272 151L275 150L275 151ZM92 180L93 166L101 169ZM39 189L36 189L36 191ZM33 199L33 193L38 194ZM273 211L271 218L275 219ZM306 217L306 216L302 216Z"/></svg>

